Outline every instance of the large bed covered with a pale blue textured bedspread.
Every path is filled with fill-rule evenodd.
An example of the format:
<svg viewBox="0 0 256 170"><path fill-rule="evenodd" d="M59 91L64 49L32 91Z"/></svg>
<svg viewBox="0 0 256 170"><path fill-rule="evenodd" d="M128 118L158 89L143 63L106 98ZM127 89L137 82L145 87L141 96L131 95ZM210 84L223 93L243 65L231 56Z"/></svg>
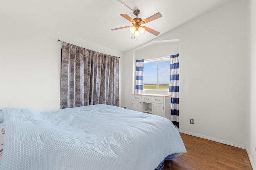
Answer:
<svg viewBox="0 0 256 170"><path fill-rule="evenodd" d="M186 152L164 117L109 105L0 109L0 170L154 170Z"/></svg>

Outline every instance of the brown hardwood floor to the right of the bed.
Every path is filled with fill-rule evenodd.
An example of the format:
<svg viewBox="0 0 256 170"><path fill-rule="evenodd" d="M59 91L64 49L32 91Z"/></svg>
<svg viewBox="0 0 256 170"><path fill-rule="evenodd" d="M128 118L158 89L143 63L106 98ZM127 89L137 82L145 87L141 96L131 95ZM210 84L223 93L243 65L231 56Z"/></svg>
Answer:
<svg viewBox="0 0 256 170"><path fill-rule="evenodd" d="M180 133L187 153L165 161L162 170L252 170L244 149Z"/></svg>

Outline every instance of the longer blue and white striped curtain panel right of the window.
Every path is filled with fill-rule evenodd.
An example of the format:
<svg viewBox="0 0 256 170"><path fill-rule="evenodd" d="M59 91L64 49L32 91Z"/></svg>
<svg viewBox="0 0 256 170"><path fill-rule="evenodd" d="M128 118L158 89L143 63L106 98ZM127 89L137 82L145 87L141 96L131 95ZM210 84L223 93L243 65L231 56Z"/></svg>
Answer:
<svg viewBox="0 0 256 170"><path fill-rule="evenodd" d="M171 121L179 128L179 54L171 55L170 59L170 88L171 95Z"/></svg>

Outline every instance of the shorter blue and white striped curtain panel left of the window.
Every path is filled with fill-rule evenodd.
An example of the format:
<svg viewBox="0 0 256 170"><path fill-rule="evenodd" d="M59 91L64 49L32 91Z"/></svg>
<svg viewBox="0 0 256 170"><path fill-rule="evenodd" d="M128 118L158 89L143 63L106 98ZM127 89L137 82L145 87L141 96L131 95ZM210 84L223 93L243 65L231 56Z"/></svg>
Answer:
<svg viewBox="0 0 256 170"><path fill-rule="evenodd" d="M144 60L136 60L135 93L143 93L143 68Z"/></svg>

